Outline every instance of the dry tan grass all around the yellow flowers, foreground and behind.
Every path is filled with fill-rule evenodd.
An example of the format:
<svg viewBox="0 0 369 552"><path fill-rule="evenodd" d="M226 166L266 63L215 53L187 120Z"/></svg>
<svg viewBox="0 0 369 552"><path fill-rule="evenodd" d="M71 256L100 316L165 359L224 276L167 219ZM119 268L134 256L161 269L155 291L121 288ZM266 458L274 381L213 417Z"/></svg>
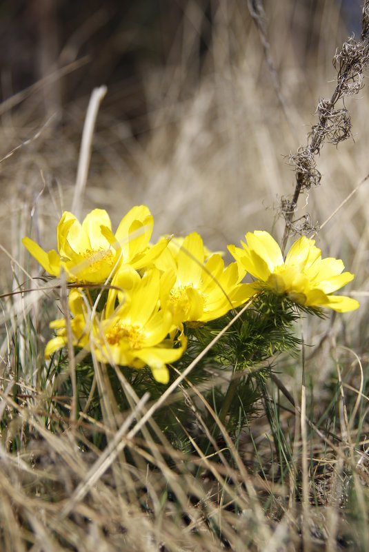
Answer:
<svg viewBox="0 0 369 552"><path fill-rule="evenodd" d="M281 240L281 198L295 186L286 156L306 144L318 100L335 89L332 57L348 34L338 4L324 0L311 12L308 3L270 2L263 34L246 1L181 3L166 63L146 60L140 68L145 108L136 118L121 116L125 81L101 103L81 212L106 208L114 226L146 203L156 236L198 230L213 249L253 229ZM86 40L98 32L94 24L91 18ZM83 44L79 28L67 45L80 43L79 32ZM61 53L70 74L93 62L76 61L77 47ZM40 276L20 245L31 216L32 235L54 247L57 221L72 206L88 96L61 101L69 78L57 70L0 105L4 294L28 280L28 269ZM270 400L257 405L237 441L219 422L217 454L204 456L196 440L183 453L161 434L153 413L170 407L169 393L139 401L131 391L131 411L119 411L98 366L102 419L80 413L70 423L72 398L60 392L68 368L48 374L43 362L58 292L1 299L1 550L367 549L368 88L345 106L352 137L321 149L321 185L301 196L298 214L322 225L356 190L316 239L325 256L343 258L355 272L349 293L361 308L303 320L304 365L301 356L275 359L287 396L280 382L268 381ZM125 380L117 385L128 393ZM201 393L191 389L186 400L206 433L201 413L212 411Z"/></svg>

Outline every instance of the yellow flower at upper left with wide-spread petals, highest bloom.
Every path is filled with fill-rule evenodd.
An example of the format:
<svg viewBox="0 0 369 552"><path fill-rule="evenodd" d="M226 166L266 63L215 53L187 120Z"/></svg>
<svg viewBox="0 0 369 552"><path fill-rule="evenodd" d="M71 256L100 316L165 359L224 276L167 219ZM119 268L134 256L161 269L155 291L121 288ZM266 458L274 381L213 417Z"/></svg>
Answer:
<svg viewBox="0 0 369 552"><path fill-rule="evenodd" d="M152 226L152 215L146 205L132 207L123 216L115 235L108 213L103 209L94 209L82 224L66 211L57 228L59 254L54 249L46 253L30 238L22 241L52 276L59 276L63 267L70 280L103 283L122 263L141 269L161 253L168 240L150 246Z"/></svg>

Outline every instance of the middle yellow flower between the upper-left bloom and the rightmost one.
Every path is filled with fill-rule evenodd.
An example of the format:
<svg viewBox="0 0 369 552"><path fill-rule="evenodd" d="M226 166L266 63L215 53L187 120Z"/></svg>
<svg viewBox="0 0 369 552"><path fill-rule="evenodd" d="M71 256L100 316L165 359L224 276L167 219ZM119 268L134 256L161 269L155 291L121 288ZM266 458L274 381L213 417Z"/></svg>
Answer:
<svg viewBox="0 0 369 552"><path fill-rule="evenodd" d="M161 278L162 306L170 306L174 323L206 323L226 314L230 309L245 303L255 290L240 284L245 271L232 263L224 267L221 256L206 252L197 232L183 239L173 254L167 248L154 261L163 273Z"/></svg>

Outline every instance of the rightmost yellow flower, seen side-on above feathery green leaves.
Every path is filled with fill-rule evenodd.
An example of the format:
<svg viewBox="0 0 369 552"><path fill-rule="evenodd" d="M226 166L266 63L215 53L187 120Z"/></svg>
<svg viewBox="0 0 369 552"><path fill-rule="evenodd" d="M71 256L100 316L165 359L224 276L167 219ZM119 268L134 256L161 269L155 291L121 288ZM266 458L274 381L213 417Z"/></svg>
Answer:
<svg viewBox="0 0 369 552"><path fill-rule="evenodd" d="M237 263L259 280L256 289L272 289L286 294L290 300L306 307L328 307L338 312L357 309L359 303L345 296L335 296L354 275L343 272L343 262L336 258L321 258L321 250L315 241L301 236L290 248L283 260L277 242L261 230L246 234L243 249L229 245L228 249Z"/></svg>

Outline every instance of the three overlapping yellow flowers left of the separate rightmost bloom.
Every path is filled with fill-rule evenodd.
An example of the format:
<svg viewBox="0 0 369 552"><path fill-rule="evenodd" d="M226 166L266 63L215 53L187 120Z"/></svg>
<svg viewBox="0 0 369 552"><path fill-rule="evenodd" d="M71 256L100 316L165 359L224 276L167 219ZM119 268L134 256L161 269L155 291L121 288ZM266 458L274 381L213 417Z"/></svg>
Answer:
<svg viewBox="0 0 369 552"><path fill-rule="evenodd" d="M49 274L63 270L70 282L81 284L69 294L75 346L94 351L102 362L147 365L155 380L167 383L168 363L186 349L183 324L219 318L254 292L241 283L245 271L237 263L225 267L196 232L151 245L152 227L146 205L130 209L115 234L103 209L94 209L82 224L64 212L58 253L44 252L30 238L23 245ZM93 300L89 284L109 285L102 309L101 294ZM68 342L65 319L51 327L57 335L46 345L46 357Z"/></svg>

